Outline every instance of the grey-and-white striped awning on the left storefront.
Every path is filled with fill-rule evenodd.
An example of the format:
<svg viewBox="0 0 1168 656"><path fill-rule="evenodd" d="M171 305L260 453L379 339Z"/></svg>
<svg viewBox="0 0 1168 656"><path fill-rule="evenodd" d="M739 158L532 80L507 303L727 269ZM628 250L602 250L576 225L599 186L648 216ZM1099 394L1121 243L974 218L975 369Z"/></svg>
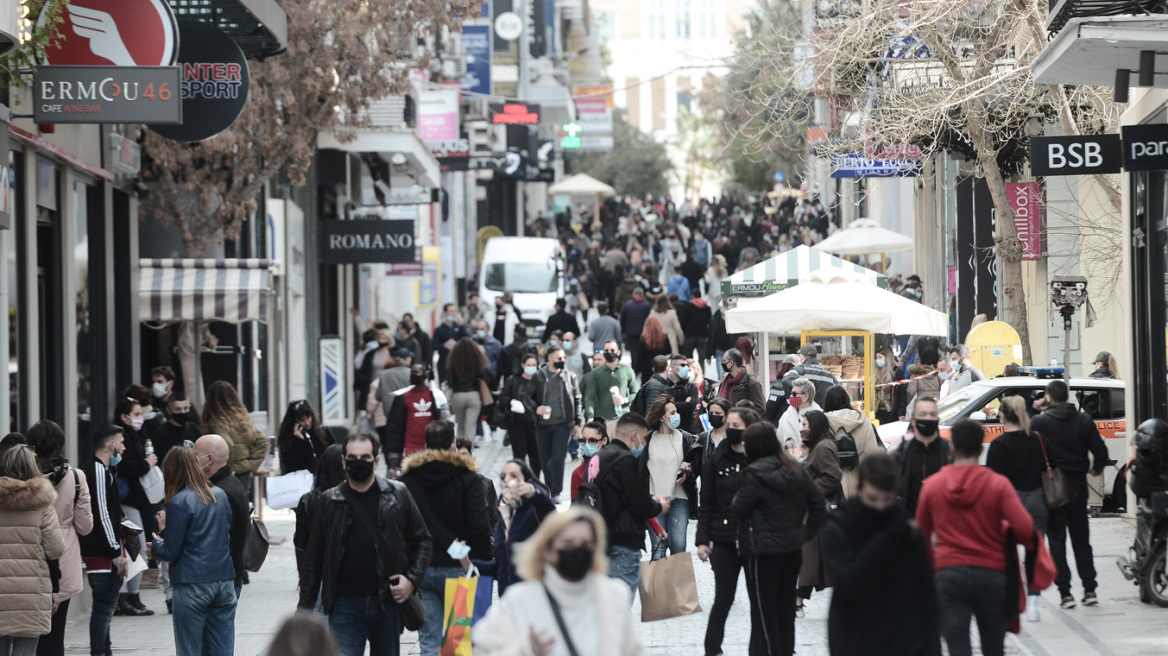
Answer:
<svg viewBox="0 0 1168 656"><path fill-rule="evenodd" d="M267 321L271 260L140 259L141 321Z"/></svg>

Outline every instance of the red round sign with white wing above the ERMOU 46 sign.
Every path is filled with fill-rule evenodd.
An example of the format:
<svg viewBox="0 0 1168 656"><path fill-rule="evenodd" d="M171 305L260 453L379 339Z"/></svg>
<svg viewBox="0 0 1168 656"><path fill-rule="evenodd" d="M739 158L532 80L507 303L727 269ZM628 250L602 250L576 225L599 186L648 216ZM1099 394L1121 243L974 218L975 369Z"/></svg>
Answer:
<svg viewBox="0 0 1168 656"><path fill-rule="evenodd" d="M51 65L174 64L178 28L166 0L70 0L61 18L61 39L44 48Z"/></svg>

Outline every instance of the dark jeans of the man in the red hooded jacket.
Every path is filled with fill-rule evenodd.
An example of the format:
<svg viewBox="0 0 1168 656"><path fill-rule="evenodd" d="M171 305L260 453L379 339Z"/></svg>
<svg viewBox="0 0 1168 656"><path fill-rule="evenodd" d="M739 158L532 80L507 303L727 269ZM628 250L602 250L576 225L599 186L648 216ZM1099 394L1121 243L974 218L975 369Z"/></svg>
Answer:
<svg viewBox="0 0 1168 656"><path fill-rule="evenodd" d="M978 619L981 652L1002 656L1006 641L1006 573L982 567L937 571L937 606L950 656L971 656L969 616Z"/></svg>

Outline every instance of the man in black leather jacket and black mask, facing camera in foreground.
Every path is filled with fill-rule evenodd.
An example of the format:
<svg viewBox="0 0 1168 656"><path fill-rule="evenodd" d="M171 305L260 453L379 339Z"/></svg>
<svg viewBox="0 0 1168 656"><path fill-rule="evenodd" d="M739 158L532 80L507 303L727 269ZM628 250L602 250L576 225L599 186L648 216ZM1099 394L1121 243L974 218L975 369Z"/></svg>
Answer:
<svg viewBox="0 0 1168 656"><path fill-rule="evenodd" d="M348 481L321 498L299 606L313 609L322 592L329 627L346 656L363 654L366 642L371 655L396 655L403 626L397 605L422 585L433 540L405 486L374 474L381 448L376 435L349 434L341 448ZM349 498L371 517L380 539L366 530Z"/></svg>

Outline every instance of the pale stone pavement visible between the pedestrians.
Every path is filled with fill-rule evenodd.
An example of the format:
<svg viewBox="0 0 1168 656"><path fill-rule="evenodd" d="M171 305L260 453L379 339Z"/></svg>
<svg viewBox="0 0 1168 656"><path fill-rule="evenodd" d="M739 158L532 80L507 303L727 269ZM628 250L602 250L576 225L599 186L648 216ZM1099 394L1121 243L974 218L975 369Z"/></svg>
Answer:
<svg viewBox="0 0 1168 656"><path fill-rule="evenodd" d="M482 470L498 477L502 463L510 458L510 449L499 440L487 440L475 451ZM575 465L569 461L565 476ZM568 489L565 484L564 489ZM236 615L236 654L260 656L284 619L297 603L296 557L292 549L294 517L291 510L264 512L272 537L272 547L264 568L251 574L244 586ZM693 546L695 523L689 526ZM1054 591L1044 594L1042 621L1024 623L1023 633L1008 636L1007 654L1023 656L1142 656L1168 654L1168 609L1139 602L1136 589L1125 581L1114 560L1126 552L1133 529L1118 517L1091 521L1094 561L1099 571L1100 606L1059 610ZM703 654L708 612L714 603L714 574L694 558L698 598L702 612L686 617L649 622L640 626L646 656ZM1076 580L1076 585L1078 581ZM1080 589L1076 594L1082 594ZM142 601L155 610L150 617L114 617L112 638L114 654L174 654L171 617L166 615L162 591L141 591ZM816 593L806 605L807 616L797 621L797 651L800 656L827 656L827 612L830 592ZM70 655L89 654L89 591L74 600L65 631L65 651ZM640 603L631 610L640 616ZM896 609L872 609L896 621ZM976 637L976 636L975 636ZM739 580L738 594L726 624L723 651L726 656L745 656L750 640L750 607L745 581ZM417 655L416 634L403 636L403 656ZM980 652L980 650L979 650Z"/></svg>

